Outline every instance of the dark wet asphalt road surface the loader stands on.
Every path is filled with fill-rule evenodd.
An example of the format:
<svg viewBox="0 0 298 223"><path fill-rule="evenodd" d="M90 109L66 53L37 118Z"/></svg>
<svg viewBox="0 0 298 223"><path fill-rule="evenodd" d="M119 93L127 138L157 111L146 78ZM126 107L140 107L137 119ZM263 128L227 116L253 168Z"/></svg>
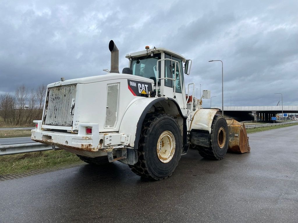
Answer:
<svg viewBox="0 0 298 223"><path fill-rule="evenodd" d="M162 181L117 162L0 182L0 222L298 222L298 125L249 137L221 161L190 150Z"/></svg>

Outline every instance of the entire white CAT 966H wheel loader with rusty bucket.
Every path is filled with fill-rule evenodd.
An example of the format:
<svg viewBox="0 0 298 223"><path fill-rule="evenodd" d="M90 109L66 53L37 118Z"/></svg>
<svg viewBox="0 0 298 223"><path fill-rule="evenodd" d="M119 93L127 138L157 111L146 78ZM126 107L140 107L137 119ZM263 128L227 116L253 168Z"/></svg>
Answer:
<svg viewBox="0 0 298 223"><path fill-rule="evenodd" d="M227 150L250 150L245 126L218 109L203 109L194 84L184 84L190 59L165 48L127 54L119 73L119 51L111 40L111 70L105 75L47 86L42 120L31 139L77 154L90 164L120 161L145 178L169 177L188 149L220 160ZM192 92L189 91L192 87Z"/></svg>

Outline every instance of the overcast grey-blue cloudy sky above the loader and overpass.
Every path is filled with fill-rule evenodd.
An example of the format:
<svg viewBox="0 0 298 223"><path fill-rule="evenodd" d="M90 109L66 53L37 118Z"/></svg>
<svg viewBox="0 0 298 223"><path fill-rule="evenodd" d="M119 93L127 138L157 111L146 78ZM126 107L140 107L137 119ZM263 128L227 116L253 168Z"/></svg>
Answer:
<svg viewBox="0 0 298 223"><path fill-rule="evenodd" d="M193 59L186 86L212 106L298 105L298 1L1 1L0 93L110 69L125 55L169 48ZM196 93L195 93L196 94ZM203 106L210 106L203 100Z"/></svg>

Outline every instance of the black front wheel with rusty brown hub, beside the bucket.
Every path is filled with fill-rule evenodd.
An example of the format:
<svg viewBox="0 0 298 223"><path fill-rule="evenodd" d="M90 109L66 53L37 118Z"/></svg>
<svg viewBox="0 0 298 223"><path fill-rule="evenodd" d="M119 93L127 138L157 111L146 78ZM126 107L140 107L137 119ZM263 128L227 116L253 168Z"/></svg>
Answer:
<svg viewBox="0 0 298 223"><path fill-rule="evenodd" d="M222 159L229 146L229 129L224 117L214 116L210 139L209 147L197 146L200 155L207 159Z"/></svg>

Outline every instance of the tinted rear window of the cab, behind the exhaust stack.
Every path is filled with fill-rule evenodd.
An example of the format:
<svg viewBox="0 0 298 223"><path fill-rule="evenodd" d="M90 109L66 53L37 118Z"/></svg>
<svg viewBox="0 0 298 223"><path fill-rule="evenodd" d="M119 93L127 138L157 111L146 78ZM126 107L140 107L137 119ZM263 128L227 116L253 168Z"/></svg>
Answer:
<svg viewBox="0 0 298 223"><path fill-rule="evenodd" d="M146 77L156 81L157 76L157 60L160 59L160 54L154 56L143 56L134 58L131 62L132 74L136 76ZM159 76L160 76L160 62L159 62Z"/></svg>

